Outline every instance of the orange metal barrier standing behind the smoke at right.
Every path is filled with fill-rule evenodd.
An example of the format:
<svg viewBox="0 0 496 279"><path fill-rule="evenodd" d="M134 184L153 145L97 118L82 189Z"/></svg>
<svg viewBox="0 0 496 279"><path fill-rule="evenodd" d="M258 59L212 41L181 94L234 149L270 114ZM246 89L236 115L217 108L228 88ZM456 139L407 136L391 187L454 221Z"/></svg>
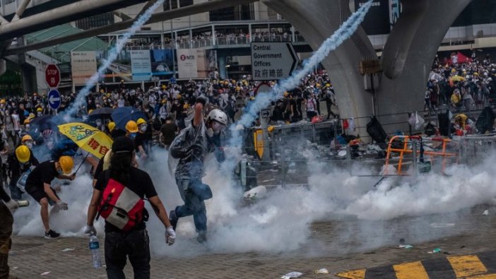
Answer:
<svg viewBox="0 0 496 279"><path fill-rule="evenodd" d="M403 140L402 146L403 148L392 148L391 145L394 141L396 140ZM387 146L387 154L386 154L386 164L384 165L384 174L387 175L387 170L389 166L389 158L391 158L391 152L394 153L399 153L399 162L398 162L398 168L396 169L396 174L397 175L407 175L406 172L401 172L402 165L403 165L403 155L405 154L412 154L413 150L411 148L408 148L408 141L412 142L413 144L416 144L418 142L421 142L423 138L421 136L394 136L389 140L388 146ZM446 168L446 161L447 158L449 157L455 157L456 153L447 153L446 152L446 146L447 143L451 143L451 140L449 138L432 138L428 139L429 141L442 141L442 149L441 151L424 151L423 155L425 156L430 156L430 161L434 162L434 159L436 157L442 157L442 172L444 173L444 169ZM417 154L420 154L420 150L417 151ZM416 160L415 156L415 160Z"/></svg>

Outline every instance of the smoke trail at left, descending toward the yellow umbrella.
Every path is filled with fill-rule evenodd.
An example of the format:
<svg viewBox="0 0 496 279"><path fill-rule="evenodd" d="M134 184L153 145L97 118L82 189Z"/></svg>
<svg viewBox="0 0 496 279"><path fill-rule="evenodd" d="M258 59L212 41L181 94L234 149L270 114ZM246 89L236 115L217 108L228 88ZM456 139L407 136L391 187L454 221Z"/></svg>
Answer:
<svg viewBox="0 0 496 279"><path fill-rule="evenodd" d="M90 77L88 82L86 82L86 85L81 91L79 91L78 97L76 97L76 100L73 102L73 105L71 106L70 109L68 109L66 115L70 116L76 112L76 110L85 102L85 97L90 93L91 88L95 85L95 83L98 83L98 79L100 76L102 76L105 73L105 70L112 64L112 62L117 59L117 56L119 55L119 52L122 51L122 48L126 44L127 40L136 33L136 31L140 30L141 26L143 26L152 16L153 11L157 9L159 6L163 4L165 0L158 0L150 6L145 13L143 13L141 16L139 16L138 20L136 20L133 25L131 25L131 28L127 32L124 33L124 36L122 37L122 40L119 40L117 44L112 47L112 49L109 52L109 55L107 59L104 59L102 62L102 65L100 68L98 68L98 71L93 73L93 76Z"/></svg>

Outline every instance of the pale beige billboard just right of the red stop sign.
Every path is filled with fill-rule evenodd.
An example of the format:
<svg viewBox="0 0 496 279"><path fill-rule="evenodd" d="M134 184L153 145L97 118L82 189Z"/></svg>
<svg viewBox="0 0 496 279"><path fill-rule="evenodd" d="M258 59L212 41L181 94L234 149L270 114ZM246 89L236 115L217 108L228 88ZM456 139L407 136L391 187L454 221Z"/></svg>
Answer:
<svg viewBox="0 0 496 279"><path fill-rule="evenodd" d="M71 73L74 84L85 84L96 71L95 52L71 52Z"/></svg>

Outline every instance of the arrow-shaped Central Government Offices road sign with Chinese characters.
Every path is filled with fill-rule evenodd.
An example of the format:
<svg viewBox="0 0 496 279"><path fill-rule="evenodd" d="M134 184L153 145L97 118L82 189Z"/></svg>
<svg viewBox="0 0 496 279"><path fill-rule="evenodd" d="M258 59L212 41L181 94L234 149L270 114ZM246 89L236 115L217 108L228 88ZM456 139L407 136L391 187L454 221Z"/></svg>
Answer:
<svg viewBox="0 0 496 279"><path fill-rule="evenodd" d="M255 81L288 78L298 65L298 57L290 42L252 42L250 49Z"/></svg>

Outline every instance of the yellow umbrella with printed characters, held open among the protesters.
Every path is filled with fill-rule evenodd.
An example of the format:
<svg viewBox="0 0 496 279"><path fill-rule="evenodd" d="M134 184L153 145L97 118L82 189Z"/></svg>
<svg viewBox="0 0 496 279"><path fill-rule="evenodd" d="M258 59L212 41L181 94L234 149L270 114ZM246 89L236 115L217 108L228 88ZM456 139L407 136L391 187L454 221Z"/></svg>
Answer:
<svg viewBox="0 0 496 279"><path fill-rule="evenodd" d="M88 124L78 122L63 124L59 125L59 131L81 149L100 159L112 148L112 139L106 133Z"/></svg>

